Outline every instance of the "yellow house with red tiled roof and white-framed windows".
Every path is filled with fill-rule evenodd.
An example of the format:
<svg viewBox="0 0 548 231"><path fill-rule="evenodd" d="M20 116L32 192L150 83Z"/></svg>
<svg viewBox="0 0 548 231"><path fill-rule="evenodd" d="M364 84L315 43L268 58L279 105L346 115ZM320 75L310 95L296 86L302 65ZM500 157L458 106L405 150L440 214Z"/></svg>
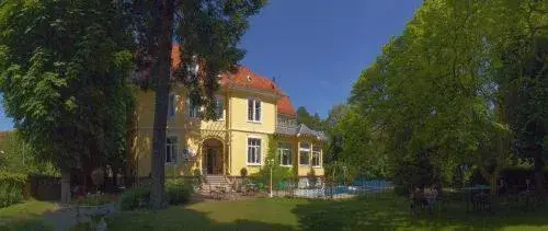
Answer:
<svg viewBox="0 0 548 231"><path fill-rule="evenodd" d="M174 49L178 51L178 49ZM176 56L175 56L176 57ZM267 78L246 67L219 77L216 120L201 119L203 108L193 105L184 88L170 93L165 169L176 174L239 176L246 168L255 173L264 164L271 135L277 135L283 165L297 168L299 176L311 169L323 175L326 136L296 124L289 97ZM139 176L150 174L155 93L137 93L135 165Z"/></svg>

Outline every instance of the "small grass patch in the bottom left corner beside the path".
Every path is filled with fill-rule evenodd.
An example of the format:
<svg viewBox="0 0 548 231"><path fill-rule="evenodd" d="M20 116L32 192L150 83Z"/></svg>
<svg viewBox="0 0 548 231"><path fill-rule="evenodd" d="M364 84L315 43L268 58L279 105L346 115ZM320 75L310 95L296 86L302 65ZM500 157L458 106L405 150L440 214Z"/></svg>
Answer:
<svg viewBox="0 0 548 231"><path fill-rule="evenodd" d="M0 230L48 230L41 215L54 209L55 204L27 200L0 209Z"/></svg>

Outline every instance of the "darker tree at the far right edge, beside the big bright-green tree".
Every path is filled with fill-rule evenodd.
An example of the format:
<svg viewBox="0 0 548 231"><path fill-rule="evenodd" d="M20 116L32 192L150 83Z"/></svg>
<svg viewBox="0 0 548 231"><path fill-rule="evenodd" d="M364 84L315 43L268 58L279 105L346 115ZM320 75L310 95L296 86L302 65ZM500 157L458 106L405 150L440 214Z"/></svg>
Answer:
<svg viewBox="0 0 548 231"><path fill-rule="evenodd" d="M515 135L514 151L532 160L537 193L544 198L548 159L548 3L506 3L507 31L496 45L495 72L501 115Z"/></svg>

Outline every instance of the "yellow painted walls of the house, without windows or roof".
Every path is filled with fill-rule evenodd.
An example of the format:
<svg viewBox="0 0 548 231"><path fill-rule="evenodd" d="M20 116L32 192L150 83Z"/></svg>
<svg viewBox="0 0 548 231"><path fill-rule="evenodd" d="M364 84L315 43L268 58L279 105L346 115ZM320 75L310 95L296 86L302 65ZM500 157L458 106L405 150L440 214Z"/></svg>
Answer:
<svg viewBox="0 0 548 231"><path fill-rule="evenodd" d="M168 136L175 135L179 138L179 149L191 148L197 155L197 161L192 166L181 170L181 173L192 173L194 169L202 168L202 141L207 137L216 137L225 143L229 143L224 151L228 157L228 171L230 175L239 176L242 168L248 169L252 174L259 171L260 165L249 165L248 158L248 137L261 138L261 159L264 162L269 147L269 135L275 132L276 124L276 99L267 95L252 95L249 92L230 92L225 95L224 118L216 122L204 122L198 118L187 116L185 92L181 88L172 91L176 95L175 116L168 119ZM248 122L248 99L261 100L262 118L261 123ZM139 176L148 176L150 173L151 148L152 148L152 126L155 116L155 93L153 91L137 92L137 148L136 159ZM229 123L227 131L227 124ZM299 165L298 142L302 138L296 137L283 138L289 141L293 147L293 164L298 168L298 174L306 176L310 166ZM310 139L311 145L320 143L318 140ZM312 148L312 147L311 147ZM323 153L321 154L323 155ZM321 157L323 159L323 157ZM323 168L315 169L317 175L323 175Z"/></svg>

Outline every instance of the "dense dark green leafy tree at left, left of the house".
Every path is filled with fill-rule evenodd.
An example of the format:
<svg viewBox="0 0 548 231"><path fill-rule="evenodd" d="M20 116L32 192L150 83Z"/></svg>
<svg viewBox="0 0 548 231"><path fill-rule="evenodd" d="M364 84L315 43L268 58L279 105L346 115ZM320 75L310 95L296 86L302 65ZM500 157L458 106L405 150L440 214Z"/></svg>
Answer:
<svg viewBox="0 0 548 231"><path fill-rule="evenodd" d="M123 154L134 39L117 1L0 3L0 91L38 160L85 176Z"/></svg>

